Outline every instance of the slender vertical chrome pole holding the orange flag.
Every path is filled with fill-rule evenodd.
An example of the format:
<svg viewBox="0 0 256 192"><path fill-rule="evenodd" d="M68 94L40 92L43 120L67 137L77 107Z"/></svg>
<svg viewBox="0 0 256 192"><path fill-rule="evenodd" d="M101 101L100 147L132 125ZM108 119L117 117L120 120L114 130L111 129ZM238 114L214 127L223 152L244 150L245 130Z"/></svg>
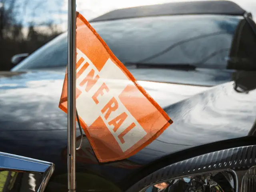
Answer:
<svg viewBox="0 0 256 192"><path fill-rule="evenodd" d="M76 0L68 0L68 191L76 191Z"/></svg>

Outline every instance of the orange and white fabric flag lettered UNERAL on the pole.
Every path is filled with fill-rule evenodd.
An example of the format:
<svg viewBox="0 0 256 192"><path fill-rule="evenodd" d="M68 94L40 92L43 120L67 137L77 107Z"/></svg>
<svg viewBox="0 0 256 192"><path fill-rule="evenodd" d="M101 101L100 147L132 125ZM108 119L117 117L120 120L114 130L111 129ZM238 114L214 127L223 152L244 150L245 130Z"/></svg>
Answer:
<svg viewBox="0 0 256 192"><path fill-rule="evenodd" d="M59 108L67 113L67 73ZM166 112L79 13L76 18L76 108L100 162L122 160L136 154L172 124Z"/></svg>

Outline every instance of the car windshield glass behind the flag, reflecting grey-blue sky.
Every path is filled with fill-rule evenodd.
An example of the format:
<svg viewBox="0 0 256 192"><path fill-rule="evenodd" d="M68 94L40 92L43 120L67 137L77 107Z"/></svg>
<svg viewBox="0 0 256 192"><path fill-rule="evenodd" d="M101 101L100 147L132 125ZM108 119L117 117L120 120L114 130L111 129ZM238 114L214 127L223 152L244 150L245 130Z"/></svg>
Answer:
<svg viewBox="0 0 256 192"><path fill-rule="evenodd" d="M241 16L154 16L91 22L117 58L126 63L191 64L225 69ZM13 70L66 67L63 33Z"/></svg>

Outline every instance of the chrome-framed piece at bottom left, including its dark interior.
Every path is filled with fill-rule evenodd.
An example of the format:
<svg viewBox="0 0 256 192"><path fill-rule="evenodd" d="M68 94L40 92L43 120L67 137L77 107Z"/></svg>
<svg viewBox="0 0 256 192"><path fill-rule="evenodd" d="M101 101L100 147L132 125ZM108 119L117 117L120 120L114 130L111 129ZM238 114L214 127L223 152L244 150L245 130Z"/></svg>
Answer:
<svg viewBox="0 0 256 192"><path fill-rule="evenodd" d="M54 164L0 152L0 191L43 192Z"/></svg>

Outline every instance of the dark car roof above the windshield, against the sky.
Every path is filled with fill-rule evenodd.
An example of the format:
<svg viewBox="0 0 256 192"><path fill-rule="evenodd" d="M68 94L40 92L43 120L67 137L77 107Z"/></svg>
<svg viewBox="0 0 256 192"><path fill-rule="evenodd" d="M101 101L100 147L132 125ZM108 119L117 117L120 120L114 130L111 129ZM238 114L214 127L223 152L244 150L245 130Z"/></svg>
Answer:
<svg viewBox="0 0 256 192"><path fill-rule="evenodd" d="M138 18L148 16L184 15L184 14L224 14L243 16L245 10L238 4L226 0L173 2L149 6L138 6L110 11L90 22Z"/></svg>

